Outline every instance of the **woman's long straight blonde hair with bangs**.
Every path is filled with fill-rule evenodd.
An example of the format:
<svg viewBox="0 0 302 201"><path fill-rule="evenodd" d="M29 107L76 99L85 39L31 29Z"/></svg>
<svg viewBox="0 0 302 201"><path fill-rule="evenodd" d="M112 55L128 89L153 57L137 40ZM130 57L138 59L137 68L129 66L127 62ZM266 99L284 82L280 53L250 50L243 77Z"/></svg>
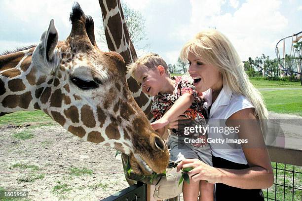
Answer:
<svg viewBox="0 0 302 201"><path fill-rule="evenodd" d="M252 102L255 116L260 119L261 129L265 134L268 112L264 100L250 82L244 65L228 38L214 29L197 33L183 47L180 55L183 61L188 60L189 52L202 58L204 63L217 67L223 75L223 85L232 93L241 94Z"/></svg>

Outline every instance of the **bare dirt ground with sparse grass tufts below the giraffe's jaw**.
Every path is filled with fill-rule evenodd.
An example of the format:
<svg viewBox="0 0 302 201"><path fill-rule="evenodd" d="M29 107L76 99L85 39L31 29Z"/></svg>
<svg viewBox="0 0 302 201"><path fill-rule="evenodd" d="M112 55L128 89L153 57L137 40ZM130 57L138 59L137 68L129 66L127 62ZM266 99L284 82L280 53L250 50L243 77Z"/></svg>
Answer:
<svg viewBox="0 0 302 201"><path fill-rule="evenodd" d="M128 184L110 147L86 142L61 126L0 128L0 187L29 191L27 200L101 200ZM16 134L34 134L18 139Z"/></svg>

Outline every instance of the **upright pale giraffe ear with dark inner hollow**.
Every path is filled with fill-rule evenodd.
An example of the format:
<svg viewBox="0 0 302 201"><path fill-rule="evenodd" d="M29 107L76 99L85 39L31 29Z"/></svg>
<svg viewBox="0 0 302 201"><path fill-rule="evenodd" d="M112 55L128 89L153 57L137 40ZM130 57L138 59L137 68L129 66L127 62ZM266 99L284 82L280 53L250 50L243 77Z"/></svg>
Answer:
<svg viewBox="0 0 302 201"><path fill-rule="evenodd" d="M48 30L41 35L32 59L38 69L46 74L53 73L60 64L60 52L56 48L58 38L59 35L54 26L54 20L51 20Z"/></svg>

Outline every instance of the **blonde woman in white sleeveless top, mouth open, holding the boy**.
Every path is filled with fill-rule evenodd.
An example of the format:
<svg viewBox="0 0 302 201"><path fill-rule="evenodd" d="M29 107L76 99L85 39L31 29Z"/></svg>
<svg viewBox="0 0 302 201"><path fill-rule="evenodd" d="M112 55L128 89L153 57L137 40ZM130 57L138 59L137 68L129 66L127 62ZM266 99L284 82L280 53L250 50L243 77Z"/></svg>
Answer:
<svg viewBox="0 0 302 201"><path fill-rule="evenodd" d="M219 126L237 128L242 143L234 145L233 141L225 141L223 145L222 140L228 134L215 129L208 131L208 138L216 140L210 142L213 167L197 159L186 159L178 165L178 170L193 167L189 177L194 182L215 183L216 201L263 201L261 189L272 186L274 180L263 137L267 109L261 94L249 81L236 50L225 35L207 30L183 47L181 58L189 62L196 91L209 94L212 103L209 125L222 120ZM172 122L170 128L175 127L177 123Z"/></svg>

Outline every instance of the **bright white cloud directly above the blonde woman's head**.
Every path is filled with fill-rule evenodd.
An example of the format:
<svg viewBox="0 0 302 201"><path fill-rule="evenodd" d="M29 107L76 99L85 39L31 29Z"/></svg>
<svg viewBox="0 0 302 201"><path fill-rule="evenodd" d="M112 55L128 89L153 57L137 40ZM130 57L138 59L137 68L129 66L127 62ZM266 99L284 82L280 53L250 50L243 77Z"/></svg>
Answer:
<svg viewBox="0 0 302 201"><path fill-rule="evenodd" d="M256 57L272 46L277 33L288 26L280 12L279 0L247 0L234 13L221 12L223 0L190 0L192 13L189 25L174 33L174 37L191 38L205 28L217 28L226 34L242 60ZM211 9L210 9L211 8ZM279 37L279 36L278 36ZM271 51L273 52L273 51Z"/></svg>

